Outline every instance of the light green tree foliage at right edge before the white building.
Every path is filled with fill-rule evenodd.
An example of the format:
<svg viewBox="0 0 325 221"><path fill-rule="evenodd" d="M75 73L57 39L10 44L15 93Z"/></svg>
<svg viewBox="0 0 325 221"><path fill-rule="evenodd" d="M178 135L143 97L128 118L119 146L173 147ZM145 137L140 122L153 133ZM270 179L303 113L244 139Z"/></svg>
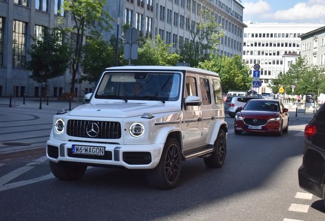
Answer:
<svg viewBox="0 0 325 221"><path fill-rule="evenodd" d="M308 64L305 57L298 57L286 73L280 73L268 84L274 92L283 86L285 93L291 94L291 85L295 85L294 94L325 93L325 68Z"/></svg>

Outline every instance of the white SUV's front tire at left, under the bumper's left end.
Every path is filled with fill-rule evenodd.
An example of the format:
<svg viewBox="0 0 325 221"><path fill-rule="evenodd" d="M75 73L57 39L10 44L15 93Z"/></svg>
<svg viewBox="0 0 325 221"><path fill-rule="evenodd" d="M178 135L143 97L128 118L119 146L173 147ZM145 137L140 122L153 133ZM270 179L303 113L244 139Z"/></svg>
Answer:
<svg viewBox="0 0 325 221"><path fill-rule="evenodd" d="M86 172L87 166L72 163L55 163L50 161L53 175L60 180L79 180Z"/></svg>

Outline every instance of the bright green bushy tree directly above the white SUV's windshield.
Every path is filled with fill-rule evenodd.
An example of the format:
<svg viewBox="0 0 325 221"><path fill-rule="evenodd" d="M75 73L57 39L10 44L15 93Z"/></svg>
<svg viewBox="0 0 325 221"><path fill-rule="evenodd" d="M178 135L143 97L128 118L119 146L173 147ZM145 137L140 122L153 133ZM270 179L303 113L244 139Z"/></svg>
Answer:
<svg viewBox="0 0 325 221"><path fill-rule="evenodd" d="M134 65L175 65L179 59L179 55L170 52L170 47L161 40L160 35L156 35L155 40L148 39L138 49L138 57L132 60Z"/></svg>

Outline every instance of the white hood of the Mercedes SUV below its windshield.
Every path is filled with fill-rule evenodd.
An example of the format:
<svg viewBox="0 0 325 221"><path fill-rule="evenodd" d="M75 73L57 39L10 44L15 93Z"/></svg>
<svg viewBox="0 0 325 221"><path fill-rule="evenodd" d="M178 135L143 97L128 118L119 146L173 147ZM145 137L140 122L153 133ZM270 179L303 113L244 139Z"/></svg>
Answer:
<svg viewBox="0 0 325 221"><path fill-rule="evenodd" d="M178 112L180 107L171 104L144 104L144 103L100 103L84 104L74 108L68 113L69 116L82 117L112 117L127 118L142 116L144 113L157 114L165 112Z"/></svg>

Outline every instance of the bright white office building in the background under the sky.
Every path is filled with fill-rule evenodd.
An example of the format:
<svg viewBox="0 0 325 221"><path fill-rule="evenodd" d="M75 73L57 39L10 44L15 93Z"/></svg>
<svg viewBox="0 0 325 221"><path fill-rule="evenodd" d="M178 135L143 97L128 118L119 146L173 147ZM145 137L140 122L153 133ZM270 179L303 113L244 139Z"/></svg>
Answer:
<svg viewBox="0 0 325 221"><path fill-rule="evenodd" d="M284 24L284 23L252 23L248 21L244 29L243 61L250 65L261 66L261 87L257 92L272 93L268 83L280 72L286 71L288 62L300 53L300 35L323 27L324 24ZM285 57L283 57L286 55ZM287 60L289 59L290 60ZM284 62L285 61L285 62ZM289 64L290 65L290 64ZM274 92L277 93L277 92Z"/></svg>

